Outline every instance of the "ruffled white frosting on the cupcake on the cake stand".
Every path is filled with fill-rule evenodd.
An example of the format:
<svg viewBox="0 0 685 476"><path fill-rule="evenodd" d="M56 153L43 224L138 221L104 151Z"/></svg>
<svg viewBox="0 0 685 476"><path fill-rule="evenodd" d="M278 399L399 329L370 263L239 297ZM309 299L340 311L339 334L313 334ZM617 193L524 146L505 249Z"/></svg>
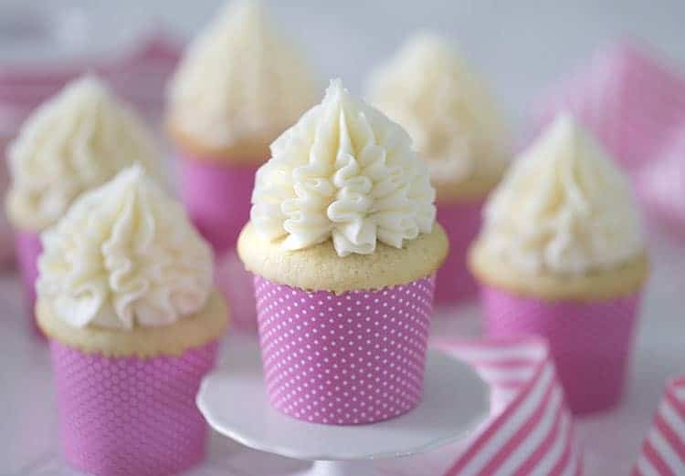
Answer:
<svg viewBox="0 0 685 476"><path fill-rule="evenodd" d="M251 219L299 250L332 239L340 256L397 248L435 221L435 190L405 130L333 80L320 105L271 145Z"/></svg>

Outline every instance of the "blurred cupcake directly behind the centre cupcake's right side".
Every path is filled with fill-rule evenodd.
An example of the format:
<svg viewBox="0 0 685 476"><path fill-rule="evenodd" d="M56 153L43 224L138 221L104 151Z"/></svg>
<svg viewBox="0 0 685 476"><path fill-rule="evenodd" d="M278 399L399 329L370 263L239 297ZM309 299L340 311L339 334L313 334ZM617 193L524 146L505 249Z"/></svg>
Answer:
<svg viewBox="0 0 685 476"><path fill-rule="evenodd" d="M467 249L478 234L485 197L508 165L509 139L483 81L448 41L420 33L378 67L367 96L406 128L437 189L437 220L450 253L437 273L436 301L476 295Z"/></svg>

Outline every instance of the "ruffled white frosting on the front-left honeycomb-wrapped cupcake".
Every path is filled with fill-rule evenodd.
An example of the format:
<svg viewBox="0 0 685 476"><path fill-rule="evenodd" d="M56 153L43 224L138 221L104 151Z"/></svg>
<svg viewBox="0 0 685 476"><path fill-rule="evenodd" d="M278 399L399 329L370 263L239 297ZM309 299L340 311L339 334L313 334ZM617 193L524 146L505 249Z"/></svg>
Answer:
<svg viewBox="0 0 685 476"><path fill-rule="evenodd" d="M71 326L164 326L203 308L212 253L140 166L88 191L42 235L37 293Z"/></svg>

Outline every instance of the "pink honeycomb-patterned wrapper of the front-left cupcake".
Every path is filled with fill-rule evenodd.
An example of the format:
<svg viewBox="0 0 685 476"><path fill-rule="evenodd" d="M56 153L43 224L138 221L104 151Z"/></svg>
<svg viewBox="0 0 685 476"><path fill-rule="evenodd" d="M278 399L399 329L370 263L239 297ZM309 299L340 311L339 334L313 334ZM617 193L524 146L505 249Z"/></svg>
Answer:
<svg viewBox="0 0 685 476"><path fill-rule="evenodd" d="M59 425L68 463L100 476L158 476L205 456L195 407L217 343L180 356L103 357L50 341Z"/></svg>

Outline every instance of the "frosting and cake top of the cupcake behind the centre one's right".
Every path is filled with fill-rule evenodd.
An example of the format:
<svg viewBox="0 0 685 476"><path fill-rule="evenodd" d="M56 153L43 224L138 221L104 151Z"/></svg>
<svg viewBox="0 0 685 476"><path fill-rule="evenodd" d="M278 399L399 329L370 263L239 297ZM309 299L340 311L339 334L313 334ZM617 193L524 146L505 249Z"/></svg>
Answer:
<svg viewBox="0 0 685 476"><path fill-rule="evenodd" d="M509 138L490 92L445 39L409 38L374 71L368 97L409 132L439 200L482 196L505 170Z"/></svg>

